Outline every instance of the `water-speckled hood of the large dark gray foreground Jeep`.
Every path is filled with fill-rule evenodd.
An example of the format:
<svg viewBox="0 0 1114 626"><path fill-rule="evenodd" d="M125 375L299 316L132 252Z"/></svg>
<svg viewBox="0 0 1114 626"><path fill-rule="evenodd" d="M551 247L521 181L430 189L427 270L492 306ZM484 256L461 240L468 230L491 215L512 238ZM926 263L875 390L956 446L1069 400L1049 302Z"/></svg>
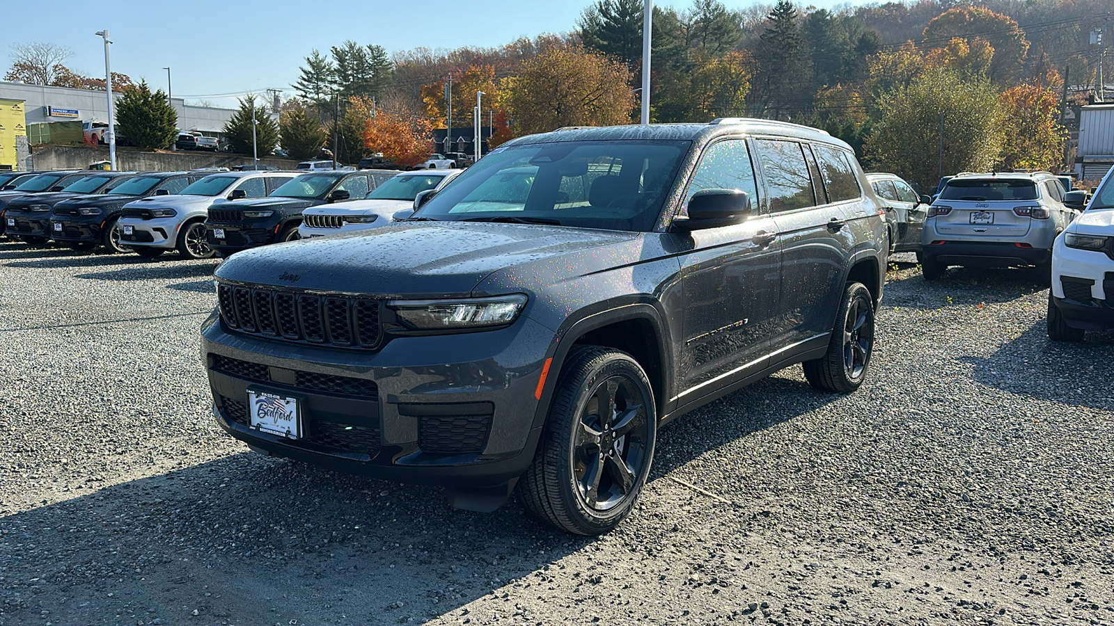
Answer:
<svg viewBox="0 0 1114 626"><path fill-rule="evenodd" d="M402 223L240 252L216 276L377 296L465 296L486 276L511 267L530 284L544 284L633 263L645 236L546 225Z"/></svg>

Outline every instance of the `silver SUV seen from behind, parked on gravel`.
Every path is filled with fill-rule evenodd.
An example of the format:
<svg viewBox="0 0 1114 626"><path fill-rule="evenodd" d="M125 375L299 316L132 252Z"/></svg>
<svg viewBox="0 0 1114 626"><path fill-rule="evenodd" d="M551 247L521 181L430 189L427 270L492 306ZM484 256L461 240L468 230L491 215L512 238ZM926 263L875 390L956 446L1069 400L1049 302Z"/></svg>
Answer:
<svg viewBox="0 0 1114 626"><path fill-rule="evenodd" d="M928 208L918 261L925 280L948 266L1035 266L1052 273L1056 236L1078 211L1064 204L1064 187L1047 172L960 174Z"/></svg>

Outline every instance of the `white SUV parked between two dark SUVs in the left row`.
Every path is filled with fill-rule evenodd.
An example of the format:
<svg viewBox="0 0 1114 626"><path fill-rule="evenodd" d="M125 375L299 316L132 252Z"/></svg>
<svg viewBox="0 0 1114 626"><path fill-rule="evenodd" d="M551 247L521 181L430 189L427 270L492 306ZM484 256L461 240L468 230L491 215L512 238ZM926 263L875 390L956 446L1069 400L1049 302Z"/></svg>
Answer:
<svg viewBox="0 0 1114 626"><path fill-rule="evenodd" d="M294 178L292 172L226 172L193 183L177 195L150 196L124 205L116 223L120 245L147 258L177 248L186 258L208 258L205 217L211 206L262 198Z"/></svg>

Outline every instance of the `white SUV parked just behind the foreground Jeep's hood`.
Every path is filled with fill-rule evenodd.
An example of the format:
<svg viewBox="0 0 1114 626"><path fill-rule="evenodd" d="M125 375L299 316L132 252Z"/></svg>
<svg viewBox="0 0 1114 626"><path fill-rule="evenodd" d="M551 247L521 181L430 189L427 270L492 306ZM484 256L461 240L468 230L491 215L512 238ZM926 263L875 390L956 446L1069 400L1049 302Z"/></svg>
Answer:
<svg viewBox="0 0 1114 626"><path fill-rule="evenodd" d="M438 192L463 169L416 169L388 178L361 200L323 204L302 212L297 234L303 238L323 237L387 226L394 214L407 211L409 217L418 194Z"/></svg>

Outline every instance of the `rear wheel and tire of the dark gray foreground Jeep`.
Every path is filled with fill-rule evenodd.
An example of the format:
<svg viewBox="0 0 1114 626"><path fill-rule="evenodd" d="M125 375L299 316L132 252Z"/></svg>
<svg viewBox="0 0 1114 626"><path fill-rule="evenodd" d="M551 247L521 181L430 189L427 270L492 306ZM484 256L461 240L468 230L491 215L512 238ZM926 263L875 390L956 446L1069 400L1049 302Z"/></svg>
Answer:
<svg viewBox="0 0 1114 626"><path fill-rule="evenodd" d="M814 389L850 393L867 379L873 348L874 301L866 285L848 283L828 352L804 362L804 378Z"/></svg>

